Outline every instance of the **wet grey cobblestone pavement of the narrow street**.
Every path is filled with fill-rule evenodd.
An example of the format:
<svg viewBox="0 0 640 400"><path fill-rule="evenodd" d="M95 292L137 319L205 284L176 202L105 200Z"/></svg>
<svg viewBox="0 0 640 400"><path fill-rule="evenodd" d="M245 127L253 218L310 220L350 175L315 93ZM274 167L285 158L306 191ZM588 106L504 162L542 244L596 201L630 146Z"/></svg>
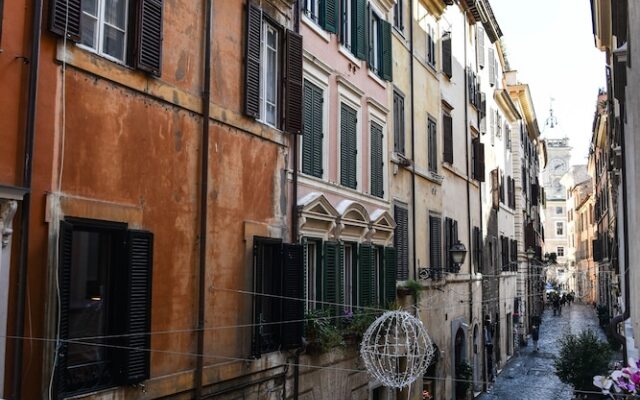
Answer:
<svg viewBox="0 0 640 400"><path fill-rule="evenodd" d="M560 382L555 375L553 361L560 351L559 339L566 333L578 334L591 329L606 340L598 326L595 310L591 306L573 304L562 308L561 316L554 316L551 309L545 310L540 325L538 352L533 351L533 342L520 348L516 355L498 375L487 393L479 400L571 400L573 389Z"/></svg>

